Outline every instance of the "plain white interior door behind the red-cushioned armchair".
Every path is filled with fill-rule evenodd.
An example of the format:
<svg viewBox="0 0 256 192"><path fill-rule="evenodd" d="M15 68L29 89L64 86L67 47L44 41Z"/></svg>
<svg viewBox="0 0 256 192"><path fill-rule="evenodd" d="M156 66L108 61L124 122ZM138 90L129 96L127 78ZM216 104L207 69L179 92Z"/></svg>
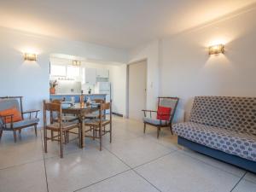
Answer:
<svg viewBox="0 0 256 192"><path fill-rule="evenodd" d="M128 111L130 119L143 119L142 109L146 108L147 61L138 61L128 67Z"/></svg>

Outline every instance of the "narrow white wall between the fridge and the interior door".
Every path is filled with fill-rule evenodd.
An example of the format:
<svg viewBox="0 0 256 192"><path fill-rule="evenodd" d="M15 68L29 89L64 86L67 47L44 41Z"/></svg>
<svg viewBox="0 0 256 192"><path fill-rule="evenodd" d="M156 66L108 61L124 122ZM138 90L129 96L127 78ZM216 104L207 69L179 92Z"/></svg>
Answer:
<svg viewBox="0 0 256 192"><path fill-rule="evenodd" d="M112 83L113 112L126 114L126 68L125 64L121 66L112 66L109 69L110 81Z"/></svg>

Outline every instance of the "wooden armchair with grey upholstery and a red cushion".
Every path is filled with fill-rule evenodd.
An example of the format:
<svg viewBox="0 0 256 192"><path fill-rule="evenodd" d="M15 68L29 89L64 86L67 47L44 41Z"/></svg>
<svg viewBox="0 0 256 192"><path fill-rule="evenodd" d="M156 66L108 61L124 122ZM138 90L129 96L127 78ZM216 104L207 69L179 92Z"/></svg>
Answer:
<svg viewBox="0 0 256 192"><path fill-rule="evenodd" d="M146 132L146 125L152 125L157 128L157 138L160 135L160 129L162 127L170 127L172 132L172 119L174 117L177 108L177 97L158 97L158 109L156 110L146 110L143 109L144 118L144 133ZM169 109L169 113L160 112L160 108ZM147 115L149 113L149 117ZM152 113L156 114L156 118L152 117ZM173 134L173 133L172 133Z"/></svg>

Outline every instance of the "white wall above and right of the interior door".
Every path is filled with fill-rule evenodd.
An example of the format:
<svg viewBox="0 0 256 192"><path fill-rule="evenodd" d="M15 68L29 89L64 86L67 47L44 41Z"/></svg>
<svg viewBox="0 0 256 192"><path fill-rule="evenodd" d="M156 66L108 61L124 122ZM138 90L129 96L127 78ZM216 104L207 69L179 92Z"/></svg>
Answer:
<svg viewBox="0 0 256 192"><path fill-rule="evenodd" d="M129 63L147 59L147 108L155 109L159 96L159 51L158 40L131 50Z"/></svg>

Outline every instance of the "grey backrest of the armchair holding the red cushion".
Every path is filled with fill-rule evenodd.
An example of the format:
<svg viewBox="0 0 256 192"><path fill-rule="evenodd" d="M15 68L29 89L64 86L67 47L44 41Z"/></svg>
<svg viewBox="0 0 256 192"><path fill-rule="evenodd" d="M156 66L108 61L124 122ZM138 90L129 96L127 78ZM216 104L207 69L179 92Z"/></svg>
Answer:
<svg viewBox="0 0 256 192"><path fill-rule="evenodd" d="M176 108L177 108L177 97L168 97L168 96L159 96L158 97L158 107L166 107L166 108L172 108L171 115L170 115L170 122L172 122L172 119L174 117Z"/></svg>

